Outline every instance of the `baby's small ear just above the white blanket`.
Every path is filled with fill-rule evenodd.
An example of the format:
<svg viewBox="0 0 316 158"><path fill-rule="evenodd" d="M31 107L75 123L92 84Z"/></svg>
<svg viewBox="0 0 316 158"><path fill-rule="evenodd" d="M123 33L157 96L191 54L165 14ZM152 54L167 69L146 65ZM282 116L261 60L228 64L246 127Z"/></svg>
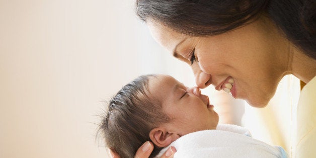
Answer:
<svg viewBox="0 0 316 158"><path fill-rule="evenodd" d="M149 138L155 145L159 147L166 147L173 141L180 138L180 136L177 133L168 132L163 127L156 127L150 130Z"/></svg>

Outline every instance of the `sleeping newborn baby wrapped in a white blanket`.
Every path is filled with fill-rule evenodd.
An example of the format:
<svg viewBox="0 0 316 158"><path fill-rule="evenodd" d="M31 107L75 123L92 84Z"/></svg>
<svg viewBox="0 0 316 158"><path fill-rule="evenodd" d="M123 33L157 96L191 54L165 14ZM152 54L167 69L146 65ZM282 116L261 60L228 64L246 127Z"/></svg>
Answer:
<svg viewBox="0 0 316 158"><path fill-rule="evenodd" d="M121 158L133 157L148 140L154 144L150 157L171 145L175 157L287 157L281 147L251 138L243 127L218 125L213 107L198 88L172 76L142 75L110 100L99 132Z"/></svg>

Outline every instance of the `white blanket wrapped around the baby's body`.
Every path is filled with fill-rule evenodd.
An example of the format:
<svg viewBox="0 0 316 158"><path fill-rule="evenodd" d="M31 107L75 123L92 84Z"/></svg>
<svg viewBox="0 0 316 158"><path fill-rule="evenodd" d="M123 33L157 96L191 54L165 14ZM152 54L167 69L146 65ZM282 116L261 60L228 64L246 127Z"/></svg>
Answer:
<svg viewBox="0 0 316 158"><path fill-rule="evenodd" d="M218 125L216 130L184 135L156 157L170 146L177 149L174 157L287 157L282 147L256 140L247 129L236 125Z"/></svg>

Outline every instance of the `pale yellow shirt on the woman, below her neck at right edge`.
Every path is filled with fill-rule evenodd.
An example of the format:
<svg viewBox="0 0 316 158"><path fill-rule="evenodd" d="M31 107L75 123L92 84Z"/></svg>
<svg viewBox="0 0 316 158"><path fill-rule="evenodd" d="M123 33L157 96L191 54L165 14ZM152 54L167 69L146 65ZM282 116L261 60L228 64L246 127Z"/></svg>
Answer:
<svg viewBox="0 0 316 158"><path fill-rule="evenodd" d="M301 91L297 105L294 157L316 157L316 76Z"/></svg>

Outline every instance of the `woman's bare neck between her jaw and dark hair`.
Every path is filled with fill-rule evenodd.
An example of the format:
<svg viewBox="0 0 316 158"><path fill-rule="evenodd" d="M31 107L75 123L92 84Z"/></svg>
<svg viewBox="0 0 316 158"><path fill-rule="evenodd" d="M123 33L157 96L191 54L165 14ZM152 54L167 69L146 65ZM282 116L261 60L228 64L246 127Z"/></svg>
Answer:
<svg viewBox="0 0 316 158"><path fill-rule="evenodd" d="M274 57L282 73L281 78L286 74L293 74L304 83L308 83L316 75L316 59L304 54L297 49L286 35L266 16L262 16L262 26L266 28L271 40L274 42ZM281 79L280 79L281 80Z"/></svg>

